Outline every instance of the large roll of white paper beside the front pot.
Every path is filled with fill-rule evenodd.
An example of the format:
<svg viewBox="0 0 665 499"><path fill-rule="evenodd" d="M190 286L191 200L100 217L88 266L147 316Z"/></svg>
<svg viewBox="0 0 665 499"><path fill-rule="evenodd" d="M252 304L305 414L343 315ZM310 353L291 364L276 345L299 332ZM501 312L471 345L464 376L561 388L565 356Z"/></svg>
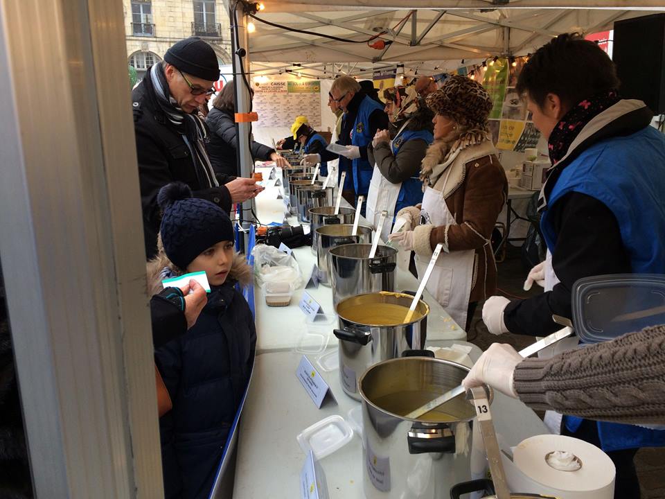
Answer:
<svg viewBox="0 0 665 499"><path fill-rule="evenodd" d="M598 447L562 435L536 435L503 457L511 491L560 499L612 499L614 463ZM559 468L559 469L556 469Z"/></svg>

